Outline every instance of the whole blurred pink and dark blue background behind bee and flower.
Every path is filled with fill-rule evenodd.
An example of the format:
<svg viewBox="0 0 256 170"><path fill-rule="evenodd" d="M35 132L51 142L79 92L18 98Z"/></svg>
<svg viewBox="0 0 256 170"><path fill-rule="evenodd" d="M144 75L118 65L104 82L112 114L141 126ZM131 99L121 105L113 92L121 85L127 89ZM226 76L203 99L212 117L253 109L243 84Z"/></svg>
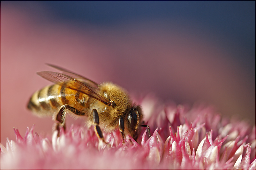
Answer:
<svg viewBox="0 0 256 170"><path fill-rule="evenodd" d="M51 63L134 96L255 124L255 1L1 1L1 143L51 118L26 109ZM70 124L73 120L68 119Z"/></svg>

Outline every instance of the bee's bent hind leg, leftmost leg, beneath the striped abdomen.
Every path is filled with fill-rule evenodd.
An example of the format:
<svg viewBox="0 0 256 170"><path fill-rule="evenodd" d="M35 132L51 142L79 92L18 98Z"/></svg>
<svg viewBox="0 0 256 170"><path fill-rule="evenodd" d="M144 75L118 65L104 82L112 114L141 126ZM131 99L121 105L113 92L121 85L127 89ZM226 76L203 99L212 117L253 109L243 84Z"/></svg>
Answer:
<svg viewBox="0 0 256 170"><path fill-rule="evenodd" d="M77 110L74 107L71 107L70 105L63 105L60 108L60 111L58 112L57 116L56 116L56 120L57 120L57 125L56 125L56 130L58 130L58 132L60 131L60 128L63 127L64 130L66 129L66 109L70 110L71 112L77 114L77 115L85 115L84 112L80 112L79 110Z"/></svg>

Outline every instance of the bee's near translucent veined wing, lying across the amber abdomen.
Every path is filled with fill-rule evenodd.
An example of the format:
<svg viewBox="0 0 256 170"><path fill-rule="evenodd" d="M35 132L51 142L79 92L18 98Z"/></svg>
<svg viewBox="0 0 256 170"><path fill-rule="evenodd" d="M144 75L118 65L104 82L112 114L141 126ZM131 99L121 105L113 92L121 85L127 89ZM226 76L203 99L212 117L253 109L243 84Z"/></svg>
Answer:
<svg viewBox="0 0 256 170"><path fill-rule="evenodd" d="M94 88L66 74L53 72L53 71L40 71L40 72L37 72L37 74L42 78L45 78L53 83L84 93L94 99L101 101L106 105L109 104L109 100L99 95Z"/></svg>

